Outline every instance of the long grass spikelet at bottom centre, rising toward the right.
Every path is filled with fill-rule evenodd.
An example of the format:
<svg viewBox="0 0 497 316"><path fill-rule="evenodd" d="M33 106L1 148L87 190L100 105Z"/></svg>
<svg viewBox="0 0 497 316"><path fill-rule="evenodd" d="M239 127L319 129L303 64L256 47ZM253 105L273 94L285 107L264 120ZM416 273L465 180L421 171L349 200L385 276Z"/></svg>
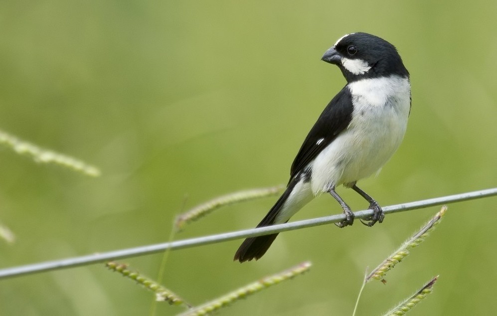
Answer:
<svg viewBox="0 0 497 316"><path fill-rule="evenodd" d="M251 283L247 286L244 286L243 288L240 288L238 290L235 290L233 292L230 292L216 300L213 300L211 302L208 302L204 305L201 305L199 307L195 307L186 313L181 314L181 316L203 316L203 315L209 315L213 312L218 311L219 309L228 306L229 304L238 301L240 299L244 299L249 295L252 295L254 293L257 293L261 290L264 290L266 288L269 288L270 286L279 284L282 281L291 279L295 276L301 275L304 272L309 271L311 268L311 263L310 262L303 262L299 264L298 266L295 266L291 269L288 269L286 271L283 271L281 273L265 277L259 281L256 281L254 283Z"/></svg>

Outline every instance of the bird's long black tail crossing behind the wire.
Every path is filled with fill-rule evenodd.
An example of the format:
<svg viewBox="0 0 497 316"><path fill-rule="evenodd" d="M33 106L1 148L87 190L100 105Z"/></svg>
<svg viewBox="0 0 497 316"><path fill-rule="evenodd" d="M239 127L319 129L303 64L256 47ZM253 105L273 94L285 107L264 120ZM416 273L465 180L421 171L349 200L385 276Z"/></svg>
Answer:
<svg viewBox="0 0 497 316"><path fill-rule="evenodd" d="M285 192L283 192L278 201L276 201L276 204L274 204L274 206L269 210L269 212L262 219L259 225L257 225L257 227L270 226L275 223L277 215L280 213L281 208L290 196L290 193L292 192L297 182L298 181L296 180L290 181ZM276 239L276 236L278 236L278 233L245 239L240 245L240 248L238 248L238 250L236 251L235 258L233 260L244 262L261 258L266 253L266 251L268 251L269 247Z"/></svg>

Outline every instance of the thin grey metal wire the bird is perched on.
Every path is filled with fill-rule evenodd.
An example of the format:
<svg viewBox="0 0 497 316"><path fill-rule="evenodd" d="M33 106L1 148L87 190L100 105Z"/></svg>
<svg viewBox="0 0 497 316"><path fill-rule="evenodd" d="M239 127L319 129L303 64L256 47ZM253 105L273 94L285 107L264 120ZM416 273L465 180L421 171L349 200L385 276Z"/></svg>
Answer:
<svg viewBox="0 0 497 316"><path fill-rule="evenodd" d="M420 200L415 202L391 205L383 207L385 214L397 213L408 210L414 210L419 208L426 208L435 205L441 205L451 202L467 201L472 199L478 199L483 197L489 197L497 195L497 188L460 193L455 195L448 195L442 197L431 198L427 200ZM364 218L372 215L372 210L363 210L355 212L356 218ZM141 246L135 248L128 248L122 250L109 251L104 253L96 253L86 256L73 257L67 259L53 260L40 262L35 264L29 264L24 266L17 266L12 268L5 268L0 270L0 280L12 277L19 277L22 275L40 273L52 270L67 269L83 265L89 265L94 263L106 262L110 260L117 260L122 258L143 256L147 254L153 254L165 250L177 250L183 248L197 247L201 245L208 245L213 243L219 243L228 240L254 237L267 235L272 233L279 233L288 230L301 229L312 226L325 225L330 223L336 223L345 219L343 214L325 216L313 219L307 219L297 222L291 222L286 224L279 224L267 227L246 229L228 233L222 233L217 235L202 236L197 238L183 239L172 242L166 242L161 244Z"/></svg>

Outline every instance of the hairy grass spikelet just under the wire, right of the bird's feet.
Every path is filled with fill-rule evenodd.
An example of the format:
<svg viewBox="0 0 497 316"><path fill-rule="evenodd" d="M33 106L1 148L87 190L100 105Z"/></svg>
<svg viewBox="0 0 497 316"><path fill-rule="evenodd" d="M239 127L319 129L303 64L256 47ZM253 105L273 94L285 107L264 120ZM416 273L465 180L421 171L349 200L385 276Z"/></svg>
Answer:
<svg viewBox="0 0 497 316"><path fill-rule="evenodd" d="M401 262L405 257L409 255L410 248L417 247L422 243L426 237L435 229L435 226L440 223L440 220L445 215L447 211L447 206L442 206L442 209L428 222L426 223L417 233L415 233L411 238L406 240L399 249L397 249L392 255L385 259L376 269L374 269L367 277L366 282L374 280L380 280L383 283L386 281L383 279L385 274L395 267L395 265Z"/></svg>

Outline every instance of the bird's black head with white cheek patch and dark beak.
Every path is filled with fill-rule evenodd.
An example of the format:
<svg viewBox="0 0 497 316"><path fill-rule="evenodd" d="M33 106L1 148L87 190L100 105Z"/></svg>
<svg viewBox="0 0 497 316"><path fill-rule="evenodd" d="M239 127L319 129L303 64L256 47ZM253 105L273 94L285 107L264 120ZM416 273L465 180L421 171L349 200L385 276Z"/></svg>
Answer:
<svg viewBox="0 0 497 316"><path fill-rule="evenodd" d="M337 65L347 82L390 75L409 76L395 46L367 33L340 37L321 60Z"/></svg>

